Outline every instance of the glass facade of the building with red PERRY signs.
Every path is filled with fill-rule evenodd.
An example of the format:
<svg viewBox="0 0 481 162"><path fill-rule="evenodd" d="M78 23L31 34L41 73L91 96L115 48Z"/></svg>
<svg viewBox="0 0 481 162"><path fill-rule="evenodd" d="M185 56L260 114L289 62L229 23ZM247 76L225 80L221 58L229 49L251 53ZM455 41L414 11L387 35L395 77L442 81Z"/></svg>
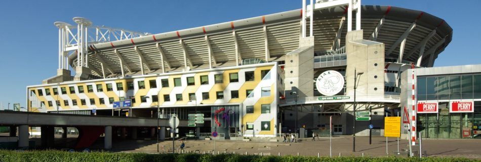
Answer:
<svg viewBox="0 0 481 162"><path fill-rule="evenodd" d="M481 74L420 76L417 100L436 100L438 113L418 113L423 138L481 138ZM474 100L474 112L450 113L450 101Z"/></svg>

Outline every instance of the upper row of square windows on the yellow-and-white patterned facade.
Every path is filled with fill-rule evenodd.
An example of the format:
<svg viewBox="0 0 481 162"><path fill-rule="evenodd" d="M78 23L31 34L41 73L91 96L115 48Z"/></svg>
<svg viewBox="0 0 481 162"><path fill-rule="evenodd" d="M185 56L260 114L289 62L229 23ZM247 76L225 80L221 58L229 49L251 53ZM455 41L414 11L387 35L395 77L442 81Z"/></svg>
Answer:
<svg viewBox="0 0 481 162"><path fill-rule="evenodd" d="M262 70L261 71L261 78L263 78L268 72L269 72L269 70ZM246 82L254 81L254 74L255 74L254 71L245 71L244 74L245 74ZM186 79L187 79L187 86L194 86L195 85L194 76L187 77ZM208 75L202 75L202 76L200 76L200 79L201 79L201 83L200 83L201 85L208 85L209 84ZM157 88L157 83L156 83L157 81L155 79L148 80L148 82L149 82L150 88ZM238 76L237 72L229 73L229 82L239 82L239 76ZM223 74L215 74L214 75L214 83L215 84L224 83ZM139 89L145 89L145 82L143 80L138 81L137 84L138 84ZM107 92L113 91L113 85L112 84L109 83L109 84L105 84L105 85L106 85ZM169 86L169 80L168 79L161 79L161 85L162 85L162 87L170 87ZM116 86L117 86L117 91L124 90L124 85L122 83L116 83ZM182 86L181 78L180 77L174 78L174 87L181 87L181 86ZM103 92L104 91L102 84L96 85L96 88L97 88L97 92ZM77 89L78 89L78 93L84 93L84 86L77 86ZM127 82L127 89L133 90L134 89L134 83L133 82ZM57 88L53 88L52 90L53 90L54 95L58 95L58 89ZM62 94L62 95L67 94L66 87L61 87L60 90L61 90L60 94ZM73 87L73 86L68 87L68 90L69 90L70 94L75 93L75 87ZM88 93L94 92L94 88L93 88L92 85L87 85L87 92ZM35 93L35 91L32 90L31 93ZM44 93L41 89L37 90L37 94L38 94L38 96L44 95ZM45 89L45 95L47 95L47 96L51 95L50 89Z"/></svg>

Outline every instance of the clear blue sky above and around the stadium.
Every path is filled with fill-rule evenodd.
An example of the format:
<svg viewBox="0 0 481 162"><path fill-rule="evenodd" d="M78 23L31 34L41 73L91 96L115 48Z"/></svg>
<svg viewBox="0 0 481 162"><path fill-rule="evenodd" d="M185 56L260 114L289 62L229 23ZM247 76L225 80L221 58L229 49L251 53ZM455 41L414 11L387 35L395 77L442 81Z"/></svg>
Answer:
<svg viewBox="0 0 481 162"><path fill-rule="evenodd" d="M380 1L383 5L420 10L453 28L453 40L434 66L481 63L481 1ZM26 86L56 74L58 29L55 21L74 24L85 17L96 25L161 33L301 8L300 0L279 1L2 1L0 2L0 101L25 106ZM12 105L11 105L12 107Z"/></svg>

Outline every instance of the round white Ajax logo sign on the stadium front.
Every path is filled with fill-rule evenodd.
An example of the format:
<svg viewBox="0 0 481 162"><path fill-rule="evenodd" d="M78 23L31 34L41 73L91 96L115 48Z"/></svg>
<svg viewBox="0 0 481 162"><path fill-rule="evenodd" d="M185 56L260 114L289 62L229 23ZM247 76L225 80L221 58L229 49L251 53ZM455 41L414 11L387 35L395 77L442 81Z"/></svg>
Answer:
<svg viewBox="0 0 481 162"><path fill-rule="evenodd" d="M315 87L320 94L325 96L336 95L344 87L344 76L334 70L324 71L317 77Z"/></svg>

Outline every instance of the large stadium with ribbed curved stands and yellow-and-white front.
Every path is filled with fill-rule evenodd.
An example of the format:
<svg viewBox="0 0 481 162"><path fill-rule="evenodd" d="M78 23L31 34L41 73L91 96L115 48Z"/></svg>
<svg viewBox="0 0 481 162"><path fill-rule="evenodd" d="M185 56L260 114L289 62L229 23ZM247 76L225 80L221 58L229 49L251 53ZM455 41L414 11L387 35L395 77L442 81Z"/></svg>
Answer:
<svg viewBox="0 0 481 162"><path fill-rule="evenodd" d="M298 10L158 34L73 21L55 23L57 75L27 87L29 110L181 120L203 114L181 132L217 131L225 139L323 133L329 116L335 135L367 135L369 121L353 129L354 107L372 110L374 135L381 135L383 116L402 110L403 71L432 67L452 38L443 19L360 0L304 2ZM114 108L124 100L132 105Z"/></svg>

